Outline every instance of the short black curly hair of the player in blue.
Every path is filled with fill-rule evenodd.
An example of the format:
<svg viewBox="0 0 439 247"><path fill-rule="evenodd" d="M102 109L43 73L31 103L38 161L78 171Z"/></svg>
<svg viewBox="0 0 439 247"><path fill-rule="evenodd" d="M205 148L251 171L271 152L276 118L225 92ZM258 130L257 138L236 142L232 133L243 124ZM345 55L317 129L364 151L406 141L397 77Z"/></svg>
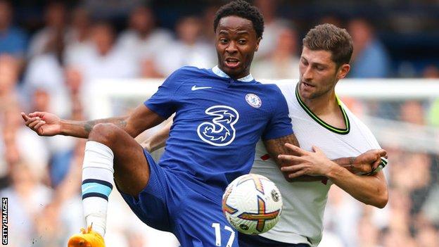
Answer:
<svg viewBox="0 0 439 247"><path fill-rule="evenodd" d="M215 14L213 21L213 32L217 31L218 23L221 18L236 15L241 18L250 20L253 23L257 38L262 38L264 32L264 17L259 9L243 0L232 1L222 6Z"/></svg>

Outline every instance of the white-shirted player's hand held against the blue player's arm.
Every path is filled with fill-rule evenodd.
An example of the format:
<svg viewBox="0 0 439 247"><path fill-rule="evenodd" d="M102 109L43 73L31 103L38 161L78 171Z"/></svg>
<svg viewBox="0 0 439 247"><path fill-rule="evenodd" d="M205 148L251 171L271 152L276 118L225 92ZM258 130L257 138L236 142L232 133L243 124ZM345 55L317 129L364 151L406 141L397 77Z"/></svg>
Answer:
<svg viewBox="0 0 439 247"><path fill-rule="evenodd" d="M285 144L293 155L279 155L288 166L281 167L282 172L288 174L289 179L303 175L326 176L332 165L336 165L327 158L320 148L312 147L314 152L305 151L292 144Z"/></svg>

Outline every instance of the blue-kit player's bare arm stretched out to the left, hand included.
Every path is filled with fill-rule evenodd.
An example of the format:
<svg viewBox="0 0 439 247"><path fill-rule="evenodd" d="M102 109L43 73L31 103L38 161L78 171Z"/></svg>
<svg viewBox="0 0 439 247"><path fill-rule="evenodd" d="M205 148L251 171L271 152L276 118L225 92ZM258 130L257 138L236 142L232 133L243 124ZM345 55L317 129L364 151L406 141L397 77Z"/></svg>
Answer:
<svg viewBox="0 0 439 247"><path fill-rule="evenodd" d="M86 139L89 137L91 129L99 123L113 123L124 129L131 137L136 137L145 129L158 125L164 120L144 104L137 106L131 115L89 121L63 120L52 113L46 112L34 112L28 115L21 113L21 115L26 126L40 136L51 137L62 134Z"/></svg>

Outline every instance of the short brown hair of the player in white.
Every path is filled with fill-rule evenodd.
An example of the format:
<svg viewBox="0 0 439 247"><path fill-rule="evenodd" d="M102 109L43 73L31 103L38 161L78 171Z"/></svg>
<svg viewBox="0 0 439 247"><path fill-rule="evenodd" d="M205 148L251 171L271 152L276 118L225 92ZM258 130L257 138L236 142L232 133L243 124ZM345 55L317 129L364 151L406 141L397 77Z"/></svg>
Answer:
<svg viewBox="0 0 439 247"><path fill-rule="evenodd" d="M338 67L350 62L353 46L348 31L332 24L315 26L303 38L303 46L313 51L331 51L331 58Z"/></svg>

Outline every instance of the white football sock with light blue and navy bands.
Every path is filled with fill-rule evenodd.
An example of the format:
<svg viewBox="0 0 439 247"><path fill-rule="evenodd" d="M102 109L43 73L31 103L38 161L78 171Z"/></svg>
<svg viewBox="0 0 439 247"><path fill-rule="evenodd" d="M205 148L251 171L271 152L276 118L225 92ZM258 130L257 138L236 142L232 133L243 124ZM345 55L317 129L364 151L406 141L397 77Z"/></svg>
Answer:
<svg viewBox="0 0 439 247"><path fill-rule="evenodd" d="M113 151L96 141L85 144L82 165L82 207L87 227L105 235L108 196L113 189Z"/></svg>

